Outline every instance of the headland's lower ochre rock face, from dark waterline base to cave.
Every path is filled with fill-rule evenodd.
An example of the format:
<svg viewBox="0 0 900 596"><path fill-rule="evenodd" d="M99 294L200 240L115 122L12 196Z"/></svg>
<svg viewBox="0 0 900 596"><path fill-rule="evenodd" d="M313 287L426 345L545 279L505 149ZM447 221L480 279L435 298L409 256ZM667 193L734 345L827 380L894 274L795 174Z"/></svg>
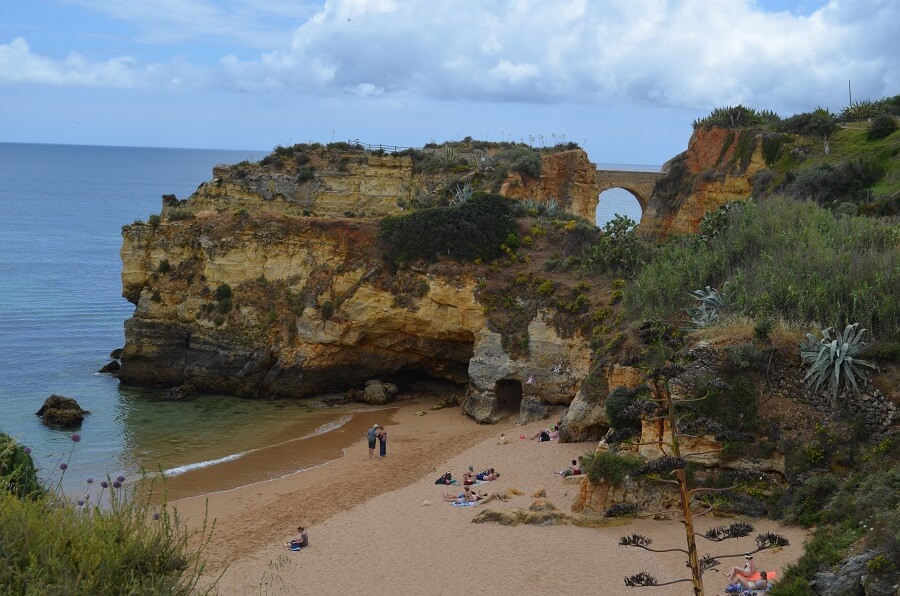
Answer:
<svg viewBox="0 0 900 596"><path fill-rule="evenodd" d="M464 383L484 326L474 280L462 267L386 275L377 226L274 214L130 226L123 295L136 309L119 378L291 397L401 369Z"/></svg>

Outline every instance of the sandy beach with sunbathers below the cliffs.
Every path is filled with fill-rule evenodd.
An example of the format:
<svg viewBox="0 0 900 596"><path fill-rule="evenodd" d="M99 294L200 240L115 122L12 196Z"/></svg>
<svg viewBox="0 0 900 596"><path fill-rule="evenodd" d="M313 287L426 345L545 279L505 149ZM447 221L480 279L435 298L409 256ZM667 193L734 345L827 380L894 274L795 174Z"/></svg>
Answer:
<svg viewBox="0 0 900 596"><path fill-rule="evenodd" d="M555 471L596 443L530 440L555 418L522 427L508 420L483 426L458 408L432 411L432 403L402 402L392 420L381 422L389 435L384 459L369 459L360 435L343 457L315 469L176 502L190 525L202 521L208 503L216 527L204 556L210 576L224 569L219 593L638 594L625 587L623 577L639 571L660 581L686 577L678 554L618 545L621 536L636 532L652 537L654 547L681 547L684 530L677 522L636 520L607 528L471 523L485 508L527 508L539 489L569 512L579 487ZM415 416L418 409L427 415ZM501 432L509 444L499 444ZM478 507L445 502L442 495L451 487L434 480L448 470L460 477L469 465L501 473L479 489L494 493L516 488L525 494ZM730 521L703 519L698 531ZM803 530L766 520L751 523L753 536L778 531L791 541L780 552L757 555L760 569L780 571L802 553ZM310 546L291 552L283 544L298 525L306 526ZM708 547L700 542L701 555L742 553L753 545L752 537ZM742 562L740 557L723 561L728 566ZM724 578L714 573L706 577L707 594L722 593ZM690 584L660 590L692 593Z"/></svg>

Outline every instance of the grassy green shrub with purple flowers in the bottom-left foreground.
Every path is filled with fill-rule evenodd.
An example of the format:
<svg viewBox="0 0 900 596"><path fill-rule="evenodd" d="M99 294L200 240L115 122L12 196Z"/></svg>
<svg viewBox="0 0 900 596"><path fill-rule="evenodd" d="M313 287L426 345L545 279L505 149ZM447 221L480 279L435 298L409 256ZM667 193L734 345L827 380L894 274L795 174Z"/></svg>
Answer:
<svg viewBox="0 0 900 596"><path fill-rule="evenodd" d="M80 436L72 435L72 441L70 457ZM0 445L3 469L10 453L30 461L9 437L0 434ZM26 476L26 484L33 484L33 470L18 481ZM212 591L215 581L199 585L200 553L210 539L205 521L188 531L177 512L160 502L153 482L136 485L138 494L122 488L123 480L107 479L102 488L88 480L88 496L78 502L31 488L0 491L0 590L184 596ZM62 477L57 491L61 484Z"/></svg>

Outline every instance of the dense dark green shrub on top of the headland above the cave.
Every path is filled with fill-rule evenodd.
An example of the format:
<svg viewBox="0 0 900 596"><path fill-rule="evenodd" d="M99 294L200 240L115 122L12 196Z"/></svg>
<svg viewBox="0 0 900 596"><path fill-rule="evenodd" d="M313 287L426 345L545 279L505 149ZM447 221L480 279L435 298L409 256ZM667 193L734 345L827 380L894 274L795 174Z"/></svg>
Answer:
<svg viewBox="0 0 900 596"><path fill-rule="evenodd" d="M501 245L516 232L512 202L476 194L454 207L434 207L381 220L385 258L391 263L445 255L459 261L488 261L503 254Z"/></svg>

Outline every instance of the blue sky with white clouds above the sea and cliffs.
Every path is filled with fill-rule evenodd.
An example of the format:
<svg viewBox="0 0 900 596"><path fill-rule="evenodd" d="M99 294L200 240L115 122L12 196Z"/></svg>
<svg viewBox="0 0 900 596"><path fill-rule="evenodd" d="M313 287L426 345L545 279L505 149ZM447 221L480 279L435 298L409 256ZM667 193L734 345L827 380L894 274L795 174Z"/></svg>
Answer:
<svg viewBox="0 0 900 596"><path fill-rule="evenodd" d="M0 142L662 164L716 107L900 94L898 31L900 0L4 0Z"/></svg>

